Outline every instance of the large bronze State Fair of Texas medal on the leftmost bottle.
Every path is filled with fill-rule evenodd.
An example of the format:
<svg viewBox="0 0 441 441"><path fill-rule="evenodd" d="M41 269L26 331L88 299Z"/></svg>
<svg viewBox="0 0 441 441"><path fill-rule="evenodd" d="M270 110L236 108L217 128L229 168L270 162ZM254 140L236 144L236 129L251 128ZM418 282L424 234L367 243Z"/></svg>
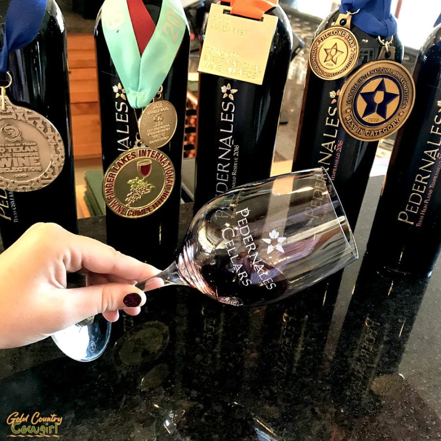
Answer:
<svg viewBox="0 0 441 441"><path fill-rule="evenodd" d="M45 117L12 104L6 96L4 100L4 110L0 110L0 189L42 189L63 169L63 140Z"/></svg>

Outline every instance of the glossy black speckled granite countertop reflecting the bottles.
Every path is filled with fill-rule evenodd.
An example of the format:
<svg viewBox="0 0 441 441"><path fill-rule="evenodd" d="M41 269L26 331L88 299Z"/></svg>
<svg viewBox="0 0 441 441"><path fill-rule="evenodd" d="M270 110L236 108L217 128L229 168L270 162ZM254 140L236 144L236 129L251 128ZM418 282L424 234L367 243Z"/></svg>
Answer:
<svg viewBox="0 0 441 441"><path fill-rule="evenodd" d="M113 326L95 362L51 339L1 350L0 439L14 412L62 417L63 440L439 439L441 272L392 278L363 259L381 182L359 261L286 301L236 308L168 287ZM185 204L181 234L190 217ZM80 232L104 240L104 218Z"/></svg>

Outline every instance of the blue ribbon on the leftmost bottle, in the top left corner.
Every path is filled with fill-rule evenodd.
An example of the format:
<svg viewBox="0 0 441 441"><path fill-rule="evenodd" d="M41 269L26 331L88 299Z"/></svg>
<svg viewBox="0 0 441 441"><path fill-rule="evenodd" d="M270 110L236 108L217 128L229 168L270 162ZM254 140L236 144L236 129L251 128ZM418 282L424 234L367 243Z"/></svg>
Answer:
<svg viewBox="0 0 441 441"><path fill-rule="evenodd" d="M24 48L38 34L45 17L47 0L11 0L4 21L0 72L8 70L10 52Z"/></svg>

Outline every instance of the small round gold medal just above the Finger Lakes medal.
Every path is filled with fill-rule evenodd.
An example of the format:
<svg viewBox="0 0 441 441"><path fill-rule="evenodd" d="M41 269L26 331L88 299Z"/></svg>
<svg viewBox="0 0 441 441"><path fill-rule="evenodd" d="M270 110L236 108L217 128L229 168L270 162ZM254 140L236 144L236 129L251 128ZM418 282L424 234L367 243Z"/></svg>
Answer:
<svg viewBox="0 0 441 441"><path fill-rule="evenodd" d="M139 135L147 147L165 146L174 135L177 114L173 104L159 99L148 104L139 119Z"/></svg>

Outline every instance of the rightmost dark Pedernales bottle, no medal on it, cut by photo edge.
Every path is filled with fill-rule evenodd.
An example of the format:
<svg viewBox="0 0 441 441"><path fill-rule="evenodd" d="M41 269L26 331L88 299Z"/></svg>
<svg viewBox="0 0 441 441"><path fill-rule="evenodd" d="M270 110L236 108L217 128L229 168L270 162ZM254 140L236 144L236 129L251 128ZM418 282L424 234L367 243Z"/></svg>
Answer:
<svg viewBox="0 0 441 441"><path fill-rule="evenodd" d="M415 106L399 130L368 253L385 267L427 274L441 243L441 25L420 50Z"/></svg>

